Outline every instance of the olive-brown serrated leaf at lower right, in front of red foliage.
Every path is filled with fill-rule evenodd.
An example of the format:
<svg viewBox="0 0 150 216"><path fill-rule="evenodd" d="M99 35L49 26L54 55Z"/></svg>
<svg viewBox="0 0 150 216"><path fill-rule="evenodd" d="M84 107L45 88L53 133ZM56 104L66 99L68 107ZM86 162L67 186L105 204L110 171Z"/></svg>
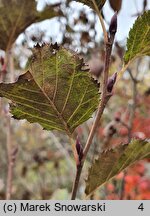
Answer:
<svg viewBox="0 0 150 216"><path fill-rule="evenodd" d="M130 144L102 152L89 169L86 195L92 194L134 162L145 158L150 158L150 142L142 140L132 140Z"/></svg>

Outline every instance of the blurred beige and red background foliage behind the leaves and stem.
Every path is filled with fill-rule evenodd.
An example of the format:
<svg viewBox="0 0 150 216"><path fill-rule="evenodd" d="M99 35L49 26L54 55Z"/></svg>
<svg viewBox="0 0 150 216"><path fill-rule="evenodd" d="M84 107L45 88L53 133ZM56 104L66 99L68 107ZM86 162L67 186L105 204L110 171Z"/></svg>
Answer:
<svg viewBox="0 0 150 216"><path fill-rule="evenodd" d="M111 10L127 11L125 0L109 1ZM42 2L42 3L41 3ZM39 1L38 7L43 7ZM104 67L104 46L101 27L92 10L72 1L47 1L55 3L56 11L62 16L50 23L33 24L25 30L7 53L0 52L1 82L15 81L25 72L31 56L31 48L40 43L54 43L75 50L90 67L92 76L101 80ZM77 7L74 7L76 5ZM148 9L142 1L140 10L133 17ZM110 17L103 14L106 25ZM49 31L43 30L43 26ZM120 26L118 26L119 28ZM56 31L59 34L55 35ZM100 32L100 35L99 35ZM54 34L53 34L54 33ZM126 38L115 41L111 58L110 74L121 69ZM8 62L5 63L5 56ZM150 59L137 59L125 72L114 89L114 95L105 109L101 124L96 132L88 154L78 198L83 198L84 179L94 155L105 146L111 148L127 143L131 138L150 138ZM95 114L93 114L94 117ZM79 136L84 146L93 119L79 126ZM17 148L13 166L12 199L70 199L75 175L75 162L69 139L56 131L44 131L38 124L10 118L8 101L0 100L0 199L5 199L8 169L8 145ZM104 185L91 199L150 199L149 161L141 161Z"/></svg>

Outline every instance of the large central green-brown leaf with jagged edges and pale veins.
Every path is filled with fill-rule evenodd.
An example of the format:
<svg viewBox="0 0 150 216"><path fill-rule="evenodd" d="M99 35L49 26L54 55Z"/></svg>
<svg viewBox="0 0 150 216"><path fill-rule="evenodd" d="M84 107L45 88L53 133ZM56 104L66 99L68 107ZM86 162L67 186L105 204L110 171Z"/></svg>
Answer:
<svg viewBox="0 0 150 216"><path fill-rule="evenodd" d="M83 66L76 53L57 44L37 45L29 71L16 83L0 84L0 96L13 101L14 118L71 134L99 103L99 86Z"/></svg>

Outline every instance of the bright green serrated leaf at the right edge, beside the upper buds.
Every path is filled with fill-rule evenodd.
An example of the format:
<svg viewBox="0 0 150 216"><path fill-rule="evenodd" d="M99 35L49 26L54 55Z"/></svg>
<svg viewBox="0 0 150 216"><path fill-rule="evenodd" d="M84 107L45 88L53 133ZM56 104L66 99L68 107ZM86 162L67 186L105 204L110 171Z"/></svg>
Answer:
<svg viewBox="0 0 150 216"><path fill-rule="evenodd" d="M129 32L124 63L145 55L150 55L150 10L137 18Z"/></svg>

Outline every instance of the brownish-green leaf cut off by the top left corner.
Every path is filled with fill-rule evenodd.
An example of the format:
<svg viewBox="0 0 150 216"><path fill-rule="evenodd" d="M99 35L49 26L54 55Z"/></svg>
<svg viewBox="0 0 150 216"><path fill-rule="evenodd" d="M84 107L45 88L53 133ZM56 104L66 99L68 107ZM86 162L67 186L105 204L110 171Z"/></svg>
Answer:
<svg viewBox="0 0 150 216"><path fill-rule="evenodd" d="M53 6L36 10L35 0L2 0L0 4L0 49L8 50L29 25L61 15Z"/></svg>

